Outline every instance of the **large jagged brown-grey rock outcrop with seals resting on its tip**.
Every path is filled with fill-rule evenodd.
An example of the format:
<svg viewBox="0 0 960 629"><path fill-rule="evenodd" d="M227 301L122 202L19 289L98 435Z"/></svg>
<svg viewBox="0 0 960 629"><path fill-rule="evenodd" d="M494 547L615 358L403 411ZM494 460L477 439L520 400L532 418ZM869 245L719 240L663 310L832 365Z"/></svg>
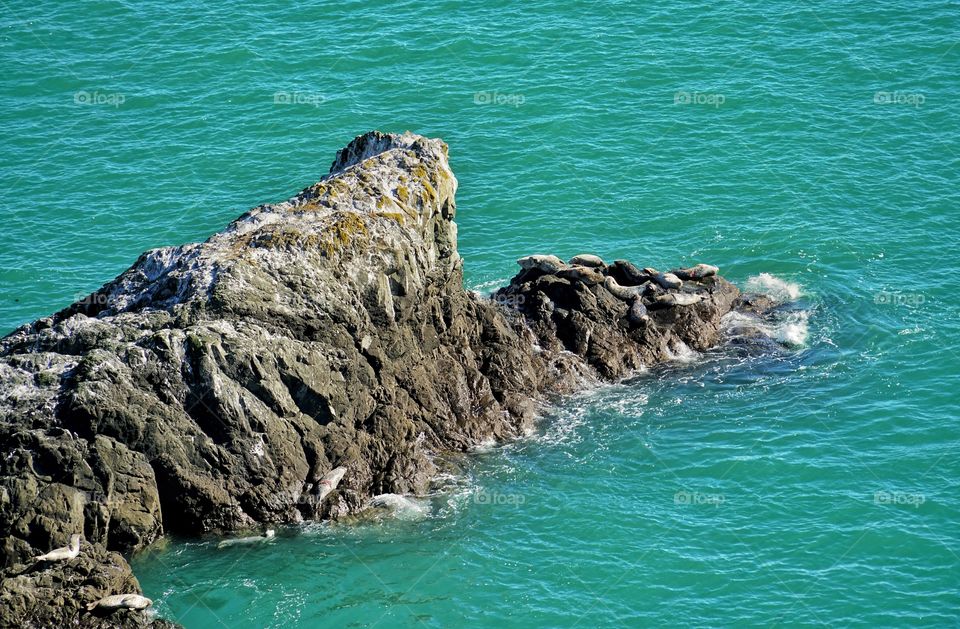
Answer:
<svg viewBox="0 0 960 629"><path fill-rule="evenodd" d="M532 256L465 291L456 187L443 142L359 136L295 197L0 340L3 592L36 592L0 622L62 602L45 574L94 622L81 603L139 592L108 551L424 492L434 454L522 433L542 396L716 342L738 291L706 265ZM22 581L74 533L82 563ZM120 582L68 578L89 562Z"/></svg>

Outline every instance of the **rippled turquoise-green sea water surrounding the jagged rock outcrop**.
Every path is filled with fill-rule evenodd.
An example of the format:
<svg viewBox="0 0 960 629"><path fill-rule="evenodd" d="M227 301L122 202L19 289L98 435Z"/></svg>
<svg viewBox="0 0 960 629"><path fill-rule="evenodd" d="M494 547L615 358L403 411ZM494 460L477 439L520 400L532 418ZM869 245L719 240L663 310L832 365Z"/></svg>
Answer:
<svg viewBox="0 0 960 629"><path fill-rule="evenodd" d="M530 253L776 293L426 497L133 559L205 627L960 626L960 6L0 2L0 333L369 129L450 145L469 288Z"/></svg>

